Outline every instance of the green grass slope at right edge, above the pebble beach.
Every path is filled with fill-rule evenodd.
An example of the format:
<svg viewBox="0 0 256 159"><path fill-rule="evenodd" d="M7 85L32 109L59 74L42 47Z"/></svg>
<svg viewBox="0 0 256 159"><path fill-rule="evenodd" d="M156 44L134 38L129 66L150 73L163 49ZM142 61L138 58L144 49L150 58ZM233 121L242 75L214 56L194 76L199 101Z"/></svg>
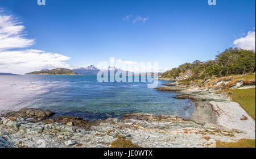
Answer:
<svg viewBox="0 0 256 159"><path fill-rule="evenodd" d="M229 90L232 101L239 103L242 108L255 120L255 88Z"/></svg>

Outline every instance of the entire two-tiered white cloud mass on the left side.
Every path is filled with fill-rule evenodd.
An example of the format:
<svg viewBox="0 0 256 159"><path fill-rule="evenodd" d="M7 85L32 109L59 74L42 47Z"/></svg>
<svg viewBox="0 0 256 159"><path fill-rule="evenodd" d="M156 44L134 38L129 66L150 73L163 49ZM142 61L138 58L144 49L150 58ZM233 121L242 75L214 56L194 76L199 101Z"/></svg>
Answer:
<svg viewBox="0 0 256 159"><path fill-rule="evenodd" d="M24 74L41 69L70 68L65 63L69 57L36 49L17 51L34 44L24 37L25 27L13 16L2 15L0 9L0 72ZM15 49L16 51L11 51Z"/></svg>

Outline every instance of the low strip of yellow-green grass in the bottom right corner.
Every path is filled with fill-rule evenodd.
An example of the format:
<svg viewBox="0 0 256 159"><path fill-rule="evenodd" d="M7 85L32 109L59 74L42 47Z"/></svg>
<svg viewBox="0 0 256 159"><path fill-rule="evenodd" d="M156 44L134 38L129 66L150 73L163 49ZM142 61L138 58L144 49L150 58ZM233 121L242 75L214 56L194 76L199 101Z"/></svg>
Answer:
<svg viewBox="0 0 256 159"><path fill-rule="evenodd" d="M255 140L241 139L235 143L216 141L217 148L255 148Z"/></svg>

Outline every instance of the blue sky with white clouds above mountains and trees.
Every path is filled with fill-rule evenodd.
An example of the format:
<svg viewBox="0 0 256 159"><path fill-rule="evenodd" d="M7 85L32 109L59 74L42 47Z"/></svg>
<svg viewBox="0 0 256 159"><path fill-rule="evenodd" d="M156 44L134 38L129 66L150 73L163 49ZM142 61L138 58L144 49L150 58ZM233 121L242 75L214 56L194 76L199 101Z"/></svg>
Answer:
<svg viewBox="0 0 256 159"><path fill-rule="evenodd" d="M255 51L255 1L0 0L0 72L24 74L109 61L160 70Z"/></svg>

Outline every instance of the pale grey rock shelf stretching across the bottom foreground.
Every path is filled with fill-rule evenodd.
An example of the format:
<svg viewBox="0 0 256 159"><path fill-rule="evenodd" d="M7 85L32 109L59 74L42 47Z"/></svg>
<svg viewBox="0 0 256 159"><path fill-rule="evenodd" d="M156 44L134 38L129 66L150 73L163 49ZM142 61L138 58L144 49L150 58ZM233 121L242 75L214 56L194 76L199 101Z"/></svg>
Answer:
<svg viewBox="0 0 256 159"><path fill-rule="evenodd" d="M209 124L205 127L177 116L127 114L123 119L100 120L90 130L61 123L6 119L0 125L0 135L4 147L100 148L110 147L113 141L122 136L140 147L176 148L215 147L217 140L236 141L244 133L219 129Z"/></svg>

